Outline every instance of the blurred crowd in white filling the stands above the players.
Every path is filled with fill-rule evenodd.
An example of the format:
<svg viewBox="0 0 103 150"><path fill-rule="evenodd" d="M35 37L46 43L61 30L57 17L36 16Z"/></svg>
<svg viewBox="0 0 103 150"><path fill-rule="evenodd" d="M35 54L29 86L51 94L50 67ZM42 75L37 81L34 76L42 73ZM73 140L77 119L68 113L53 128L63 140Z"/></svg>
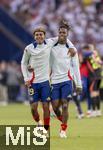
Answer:
<svg viewBox="0 0 103 150"><path fill-rule="evenodd" d="M47 37L58 32L58 22L70 22L70 39L78 49L91 42L103 56L103 0L1 0L10 13L32 32L42 25Z"/></svg>

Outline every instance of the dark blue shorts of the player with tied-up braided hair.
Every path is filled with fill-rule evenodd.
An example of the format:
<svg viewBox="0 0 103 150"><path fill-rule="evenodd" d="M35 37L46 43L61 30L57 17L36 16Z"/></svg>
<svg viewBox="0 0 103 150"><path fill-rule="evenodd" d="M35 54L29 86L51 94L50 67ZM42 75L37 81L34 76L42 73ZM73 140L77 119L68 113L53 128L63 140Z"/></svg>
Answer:
<svg viewBox="0 0 103 150"><path fill-rule="evenodd" d="M51 85L51 100L70 99L72 97L72 81Z"/></svg>

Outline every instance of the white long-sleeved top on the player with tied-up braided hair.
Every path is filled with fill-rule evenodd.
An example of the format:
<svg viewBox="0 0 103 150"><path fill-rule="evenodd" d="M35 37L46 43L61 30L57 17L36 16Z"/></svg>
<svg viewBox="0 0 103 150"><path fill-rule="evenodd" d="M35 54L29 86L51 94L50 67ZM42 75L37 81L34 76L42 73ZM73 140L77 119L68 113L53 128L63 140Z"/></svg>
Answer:
<svg viewBox="0 0 103 150"><path fill-rule="evenodd" d="M76 55L74 57L68 55L69 48L75 49ZM82 85L77 50L69 40L67 41L67 44L56 43L53 46L51 50L50 64L52 84L57 84L71 80L73 78L73 73L76 78L76 85Z"/></svg>

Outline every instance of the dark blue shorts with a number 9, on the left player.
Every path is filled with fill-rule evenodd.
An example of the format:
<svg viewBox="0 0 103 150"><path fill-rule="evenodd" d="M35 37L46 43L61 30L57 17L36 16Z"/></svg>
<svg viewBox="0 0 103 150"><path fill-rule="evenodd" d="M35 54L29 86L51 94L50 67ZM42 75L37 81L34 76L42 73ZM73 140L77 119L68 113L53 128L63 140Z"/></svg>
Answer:
<svg viewBox="0 0 103 150"><path fill-rule="evenodd" d="M32 83L28 89L30 95L30 103L34 102L48 102L50 101L50 84L49 81L41 83Z"/></svg>

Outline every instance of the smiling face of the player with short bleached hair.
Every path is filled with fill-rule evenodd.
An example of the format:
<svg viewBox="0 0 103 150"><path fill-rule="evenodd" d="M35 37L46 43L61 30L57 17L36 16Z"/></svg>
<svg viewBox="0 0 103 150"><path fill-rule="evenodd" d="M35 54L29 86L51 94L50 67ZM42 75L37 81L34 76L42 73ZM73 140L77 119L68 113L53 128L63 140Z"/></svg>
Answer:
<svg viewBox="0 0 103 150"><path fill-rule="evenodd" d="M35 32L34 38L38 44L42 44L45 40L44 32Z"/></svg>

